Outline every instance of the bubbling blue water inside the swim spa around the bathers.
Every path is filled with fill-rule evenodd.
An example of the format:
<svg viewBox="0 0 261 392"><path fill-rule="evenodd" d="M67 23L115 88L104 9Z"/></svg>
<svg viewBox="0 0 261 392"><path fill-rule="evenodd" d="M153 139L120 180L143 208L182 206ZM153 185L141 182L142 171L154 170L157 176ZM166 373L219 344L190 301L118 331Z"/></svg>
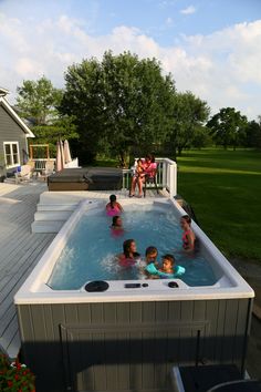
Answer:
<svg viewBox="0 0 261 392"><path fill-rule="evenodd" d="M188 255L181 250L181 229L169 208L145 206L132 210L126 207L122 219L124 234L113 236L109 228L112 218L104 210L86 212L62 250L49 286L55 290L72 290L88 280L144 278L140 268L121 267L115 259L115 255L123 251L123 241L128 238L135 239L142 258L148 246L156 246L159 265L163 255L174 254L177 264L186 268L180 279L189 286L208 286L217 281L209 262L200 252Z"/></svg>

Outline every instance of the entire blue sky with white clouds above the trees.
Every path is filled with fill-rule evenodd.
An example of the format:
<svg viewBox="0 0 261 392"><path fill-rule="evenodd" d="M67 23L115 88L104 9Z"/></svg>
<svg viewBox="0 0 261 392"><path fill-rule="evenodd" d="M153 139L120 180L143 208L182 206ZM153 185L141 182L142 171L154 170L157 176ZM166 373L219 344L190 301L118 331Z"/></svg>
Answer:
<svg viewBox="0 0 261 392"><path fill-rule="evenodd" d="M23 80L63 87L67 66L107 50L156 58L211 115L261 115L261 0L0 0L0 86L12 104Z"/></svg>

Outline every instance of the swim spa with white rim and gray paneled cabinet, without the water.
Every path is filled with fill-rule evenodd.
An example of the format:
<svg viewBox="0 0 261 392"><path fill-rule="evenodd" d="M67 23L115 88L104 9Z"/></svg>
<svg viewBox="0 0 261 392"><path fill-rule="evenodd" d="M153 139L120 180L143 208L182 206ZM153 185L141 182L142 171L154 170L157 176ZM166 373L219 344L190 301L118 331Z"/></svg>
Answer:
<svg viewBox="0 0 261 392"><path fill-rule="evenodd" d="M134 200L121 203L127 212ZM243 370L253 291L195 223L210 283L132 277L88 292L85 283L94 279L83 276L76 289L50 287L81 217L94 219L104 206L81 202L15 296L24 361L38 375L38 390L164 391L174 364L236 363ZM139 207L170 212L177 221L185 214L170 199L136 200ZM159 255L168 250L164 239L155 245Z"/></svg>

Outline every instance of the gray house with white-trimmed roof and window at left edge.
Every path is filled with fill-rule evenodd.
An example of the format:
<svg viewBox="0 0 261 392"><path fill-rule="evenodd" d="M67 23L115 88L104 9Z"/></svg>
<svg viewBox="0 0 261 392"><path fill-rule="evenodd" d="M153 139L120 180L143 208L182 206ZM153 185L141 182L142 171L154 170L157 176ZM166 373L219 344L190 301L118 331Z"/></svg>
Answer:
<svg viewBox="0 0 261 392"><path fill-rule="evenodd" d="M28 137L35 137L6 100L8 90L0 87L0 166L13 172L28 161Z"/></svg>

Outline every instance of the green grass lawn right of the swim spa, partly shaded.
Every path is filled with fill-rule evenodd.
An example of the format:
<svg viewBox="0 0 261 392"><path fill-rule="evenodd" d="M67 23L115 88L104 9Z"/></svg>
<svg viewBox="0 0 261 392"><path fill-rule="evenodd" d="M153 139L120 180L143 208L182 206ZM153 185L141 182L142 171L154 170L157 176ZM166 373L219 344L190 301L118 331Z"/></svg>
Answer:
<svg viewBox="0 0 261 392"><path fill-rule="evenodd" d="M201 149L178 157L178 194L230 257L261 262L261 153Z"/></svg>

